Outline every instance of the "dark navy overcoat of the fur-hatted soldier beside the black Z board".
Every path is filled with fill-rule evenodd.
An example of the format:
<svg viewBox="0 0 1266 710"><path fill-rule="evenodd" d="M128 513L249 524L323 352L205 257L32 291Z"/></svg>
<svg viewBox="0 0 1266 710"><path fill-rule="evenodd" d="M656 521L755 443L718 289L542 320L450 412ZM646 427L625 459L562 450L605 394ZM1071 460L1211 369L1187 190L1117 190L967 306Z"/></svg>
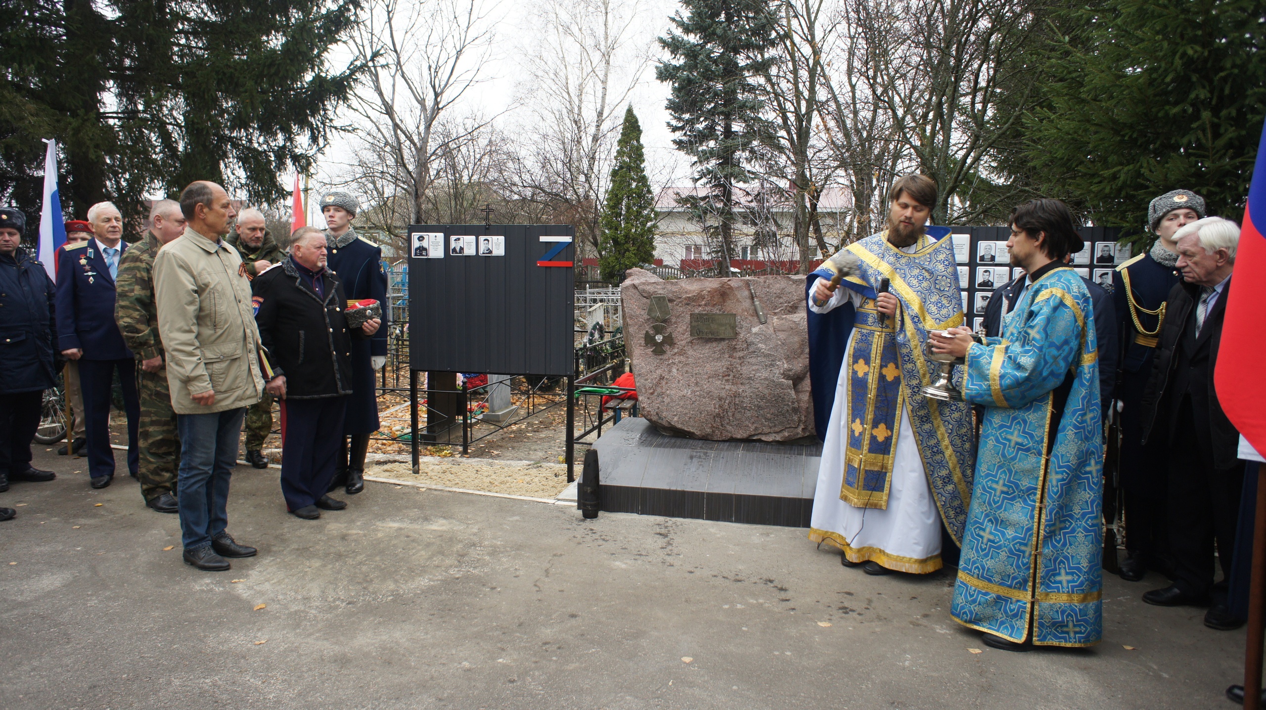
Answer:
<svg viewBox="0 0 1266 710"><path fill-rule="evenodd" d="M379 430L379 400L371 356L387 354L387 275L382 271L382 248L348 229L338 238L325 234L327 266L343 282L351 301L373 299L382 309L382 324L370 339L352 340L352 395L347 399L344 434Z"/></svg>

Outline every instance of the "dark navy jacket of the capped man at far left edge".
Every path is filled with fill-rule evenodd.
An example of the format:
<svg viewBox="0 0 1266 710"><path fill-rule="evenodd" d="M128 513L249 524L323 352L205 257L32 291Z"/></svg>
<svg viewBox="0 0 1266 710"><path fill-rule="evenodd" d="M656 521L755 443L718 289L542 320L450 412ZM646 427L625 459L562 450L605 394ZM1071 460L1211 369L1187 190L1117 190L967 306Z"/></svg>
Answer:
<svg viewBox="0 0 1266 710"><path fill-rule="evenodd" d="M57 386L56 289L24 249L0 254L0 394Z"/></svg>

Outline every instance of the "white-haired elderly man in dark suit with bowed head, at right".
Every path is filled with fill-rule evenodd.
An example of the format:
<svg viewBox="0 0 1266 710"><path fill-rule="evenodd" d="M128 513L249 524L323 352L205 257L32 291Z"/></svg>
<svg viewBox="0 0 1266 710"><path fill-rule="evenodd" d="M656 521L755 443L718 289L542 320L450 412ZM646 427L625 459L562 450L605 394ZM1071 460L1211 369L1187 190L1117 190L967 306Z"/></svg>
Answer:
<svg viewBox="0 0 1266 710"><path fill-rule="evenodd" d="M1239 227L1218 216L1174 234L1182 281L1166 299L1160 347L1139 406L1143 439L1167 445L1167 525L1174 583L1143 595L1157 606L1205 606L1206 626L1237 628L1227 606L1244 467L1239 433L1218 404L1213 372ZM1214 583L1214 543L1224 580Z"/></svg>

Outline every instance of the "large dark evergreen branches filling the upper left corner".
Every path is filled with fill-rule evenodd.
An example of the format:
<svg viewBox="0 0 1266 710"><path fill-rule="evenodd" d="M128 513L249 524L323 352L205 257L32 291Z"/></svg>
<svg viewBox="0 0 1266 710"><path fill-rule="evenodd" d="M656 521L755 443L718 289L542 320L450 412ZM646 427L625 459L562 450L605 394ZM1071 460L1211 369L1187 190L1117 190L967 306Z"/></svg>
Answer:
<svg viewBox="0 0 1266 710"><path fill-rule="evenodd" d="M0 196L39 214L44 144L62 205L82 218L218 181L254 202L306 171L358 67L329 49L360 0L0 3ZM34 210L32 213L32 210Z"/></svg>

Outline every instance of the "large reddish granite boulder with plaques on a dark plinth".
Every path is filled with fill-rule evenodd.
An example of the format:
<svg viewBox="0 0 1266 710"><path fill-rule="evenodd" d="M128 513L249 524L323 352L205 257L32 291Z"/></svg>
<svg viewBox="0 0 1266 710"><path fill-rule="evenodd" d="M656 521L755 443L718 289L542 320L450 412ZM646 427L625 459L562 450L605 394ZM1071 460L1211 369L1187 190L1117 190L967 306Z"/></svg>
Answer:
<svg viewBox="0 0 1266 710"><path fill-rule="evenodd" d="M641 415L666 434L790 442L814 435L804 276L620 285Z"/></svg>

